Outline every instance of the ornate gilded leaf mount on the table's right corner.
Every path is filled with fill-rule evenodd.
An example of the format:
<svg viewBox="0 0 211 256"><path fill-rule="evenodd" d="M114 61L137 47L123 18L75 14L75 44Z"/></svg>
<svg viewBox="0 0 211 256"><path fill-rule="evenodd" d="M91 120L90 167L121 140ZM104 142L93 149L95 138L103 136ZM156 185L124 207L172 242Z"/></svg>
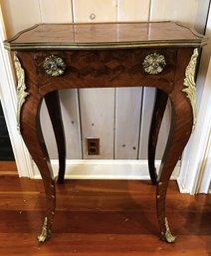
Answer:
<svg viewBox="0 0 211 256"><path fill-rule="evenodd" d="M185 89L182 92L186 93L193 111L193 128L196 126L196 83L195 83L195 70L198 58L198 49L194 49L190 62L185 70L185 79L183 85Z"/></svg>

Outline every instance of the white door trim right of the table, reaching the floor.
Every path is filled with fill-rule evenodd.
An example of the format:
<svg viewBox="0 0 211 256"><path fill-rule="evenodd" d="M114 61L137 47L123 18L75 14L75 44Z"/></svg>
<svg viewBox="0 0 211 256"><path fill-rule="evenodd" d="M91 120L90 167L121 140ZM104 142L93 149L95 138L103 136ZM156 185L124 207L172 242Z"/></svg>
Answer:
<svg viewBox="0 0 211 256"><path fill-rule="evenodd" d="M195 194L208 193L210 171L211 130L211 59L198 113L197 125L181 161L178 184L181 191ZM209 165L209 166L208 166ZM208 170L209 169L209 170Z"/></svg>

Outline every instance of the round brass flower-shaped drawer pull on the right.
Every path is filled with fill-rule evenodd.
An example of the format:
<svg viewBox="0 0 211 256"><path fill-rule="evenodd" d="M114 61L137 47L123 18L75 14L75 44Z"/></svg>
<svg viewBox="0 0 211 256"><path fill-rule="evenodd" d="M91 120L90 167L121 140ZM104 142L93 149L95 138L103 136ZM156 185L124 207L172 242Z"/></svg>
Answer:
<svg viewBox="0 0 211 256"><path fill-rule="evenodd" d="M161 73L166 66L165 58L161 54L149 54L143 61L143 69L146 73L157 75Z"/></svg>

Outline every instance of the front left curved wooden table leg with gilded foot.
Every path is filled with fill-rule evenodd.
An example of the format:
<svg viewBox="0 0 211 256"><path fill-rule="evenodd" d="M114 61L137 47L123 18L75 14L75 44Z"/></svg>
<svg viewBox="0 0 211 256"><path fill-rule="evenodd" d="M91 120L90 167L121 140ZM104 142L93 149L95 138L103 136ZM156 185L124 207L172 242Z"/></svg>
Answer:
<svg viewBox="0 0 211 256"><path fill-rule="evenodd" d="M54 175L40 126L41 102L42 97L37 94L30 95L27 98L21 110L20 131L43 178L47 203L46 217L38 240L39 242L45 242L51 235L56 207L56 192Z"/></svg>

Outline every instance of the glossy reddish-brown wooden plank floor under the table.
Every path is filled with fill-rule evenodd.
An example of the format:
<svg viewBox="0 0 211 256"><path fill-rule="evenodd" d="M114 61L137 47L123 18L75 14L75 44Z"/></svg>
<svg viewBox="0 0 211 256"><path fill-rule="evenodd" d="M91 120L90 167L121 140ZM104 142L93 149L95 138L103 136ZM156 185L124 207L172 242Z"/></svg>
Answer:
<svg viewBox="0 0 211 256"><path fill-rule="evenodd" d="M0 175L0 255L211 255L211 196L179 194L170 182L167 216L177 240L167 244L154 191L146 181L68 180L57 186L52 238L39 244L42 181Z"/></svg>

